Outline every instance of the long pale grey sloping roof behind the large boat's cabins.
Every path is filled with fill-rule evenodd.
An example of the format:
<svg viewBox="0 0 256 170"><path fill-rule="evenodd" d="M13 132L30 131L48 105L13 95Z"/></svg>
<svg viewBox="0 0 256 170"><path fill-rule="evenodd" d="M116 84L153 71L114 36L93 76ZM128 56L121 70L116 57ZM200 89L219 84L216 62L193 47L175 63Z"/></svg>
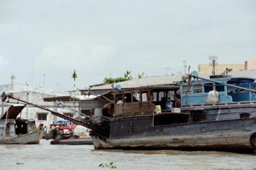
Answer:
<svg viewBox="0 0 256 170"><path fill-rule="evenodd" d="M221 74L221 73L216 73ZM199 73L199 76L204 78L209 78L211 73ZM256 78L256 70L246 70L246 71L231 71L228 75L232 77L248 77L248 78ZM119 83L115 83L121 85L122 89L127 88L137 88L137 87L144 87L144 86L153 86L153 85L170 85L175 81L181 81L181 75L175 76L151 76L145 77L140 79L134 79L129 81L122 81ZM91 87L90 90L107 90L113 89L111 84L108 85L101 85L97 87Z"/></svg>

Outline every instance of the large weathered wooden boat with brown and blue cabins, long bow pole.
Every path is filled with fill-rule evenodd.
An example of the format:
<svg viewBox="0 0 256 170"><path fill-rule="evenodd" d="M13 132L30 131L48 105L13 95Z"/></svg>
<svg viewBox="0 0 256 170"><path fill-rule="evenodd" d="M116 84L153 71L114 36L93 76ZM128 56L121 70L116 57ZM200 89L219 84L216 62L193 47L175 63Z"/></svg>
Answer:
<svg viewBox="0 0 256 170"><path fill-rule="evenodd" d="M190 81L191 78L196 81ZM92 99L108 101L113 107L108 106L108 110L103 107L100 117L84 115L84 120L72 120L51 113L91 129L95 149L255 152L255 79L198 78L189 74L189 81L183 83L110 90ZM212 90L217 94L218 85L222 85L216 95L218 100L205 102ZM229 87L238 90L229 93L232 90ZM12 95L7 97L15 99Z"/></svg>

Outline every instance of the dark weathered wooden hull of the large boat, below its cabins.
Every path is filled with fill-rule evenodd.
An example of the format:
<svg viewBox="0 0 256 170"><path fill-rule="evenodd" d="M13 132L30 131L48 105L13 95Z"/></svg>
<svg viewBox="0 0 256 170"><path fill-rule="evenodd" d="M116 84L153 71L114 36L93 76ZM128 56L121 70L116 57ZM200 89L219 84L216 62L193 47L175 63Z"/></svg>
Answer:
<svg viewBox="0 0 256 170"><path fill-rule="evenodd" d="M93 135L95 149L211 149L253 151L256 118L152 125L152 116L124 117L110 123L109 138Z"/></svg>

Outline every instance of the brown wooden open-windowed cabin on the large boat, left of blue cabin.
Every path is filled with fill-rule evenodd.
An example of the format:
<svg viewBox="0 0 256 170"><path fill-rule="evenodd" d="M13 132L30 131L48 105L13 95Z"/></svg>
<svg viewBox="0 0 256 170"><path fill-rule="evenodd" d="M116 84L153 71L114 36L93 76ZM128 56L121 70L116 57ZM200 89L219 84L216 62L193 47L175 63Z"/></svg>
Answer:
<svg viewBox="0 0 256 170"><path fill-rule="evenodd" d="M171 112L180 107L179 86L161 85L123 89L104 94L103 98L112 104L113 115L123 117L129 115L150 115L158 108L159 113Z"/></svg>

